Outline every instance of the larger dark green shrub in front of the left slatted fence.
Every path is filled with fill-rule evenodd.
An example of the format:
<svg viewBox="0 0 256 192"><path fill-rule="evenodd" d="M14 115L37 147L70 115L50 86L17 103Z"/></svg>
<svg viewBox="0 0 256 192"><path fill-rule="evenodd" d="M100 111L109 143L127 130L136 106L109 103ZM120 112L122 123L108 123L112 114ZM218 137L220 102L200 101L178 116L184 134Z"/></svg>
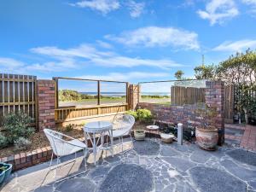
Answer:
<svg viewBox="0 0 256 192"><path fill-rule="evenodd" d="M31 137L34 129L29 127L30 123L32 123L32 118L26 113L9 113L6 115L3 119L3 128L9 143L14 143L20 137Z"/></svg>

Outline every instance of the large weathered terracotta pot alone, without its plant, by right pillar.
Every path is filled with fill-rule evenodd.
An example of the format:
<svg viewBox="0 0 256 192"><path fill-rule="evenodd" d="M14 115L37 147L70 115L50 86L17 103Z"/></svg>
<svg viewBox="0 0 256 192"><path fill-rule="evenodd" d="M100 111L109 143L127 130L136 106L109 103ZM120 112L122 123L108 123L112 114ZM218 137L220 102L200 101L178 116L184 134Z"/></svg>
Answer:
<svg viewBox="0 0 256 192"><path fill-rule="evenodd" d="M197 145L204 150L216 150L218 144L217 129L201 129L196 127L195 137Z"/></svg>

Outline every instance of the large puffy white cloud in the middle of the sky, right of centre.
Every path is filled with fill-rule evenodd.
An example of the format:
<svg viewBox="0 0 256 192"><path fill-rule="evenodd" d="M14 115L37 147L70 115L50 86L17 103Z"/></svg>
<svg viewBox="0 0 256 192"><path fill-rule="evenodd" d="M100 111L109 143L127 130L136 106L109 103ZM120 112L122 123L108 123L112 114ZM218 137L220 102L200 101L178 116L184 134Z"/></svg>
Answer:
<svg viewBox="0 0 256 192"><path fill-rule="evenodd" d="M200 44L195 32L174 27L147 26L134 31L122 32L119 36L107 35L105 38L125 44L143 45L145 47L166 47L182 49L199 49Z"/></svg>

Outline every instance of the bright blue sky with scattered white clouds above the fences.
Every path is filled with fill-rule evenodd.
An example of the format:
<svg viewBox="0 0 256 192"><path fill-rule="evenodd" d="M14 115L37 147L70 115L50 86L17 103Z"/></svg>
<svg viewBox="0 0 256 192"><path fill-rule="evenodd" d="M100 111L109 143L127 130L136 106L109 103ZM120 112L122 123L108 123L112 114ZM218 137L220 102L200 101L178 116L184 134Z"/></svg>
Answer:
<svg viewBox="0 0 256 192"><path fill-rule="evenodd" d="M139 81L192 77L256 48L255 0L2 0L0 70Z"/></svg>

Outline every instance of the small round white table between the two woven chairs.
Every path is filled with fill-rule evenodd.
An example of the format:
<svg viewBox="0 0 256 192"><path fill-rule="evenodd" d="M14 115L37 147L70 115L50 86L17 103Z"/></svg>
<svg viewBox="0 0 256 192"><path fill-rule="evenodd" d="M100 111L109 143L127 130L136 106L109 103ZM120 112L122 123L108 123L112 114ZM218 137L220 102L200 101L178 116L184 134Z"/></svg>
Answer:
<svg viewBox="0 0 256 192"><path fill-rule="evenodd" d="M86 145L87 139L90 139L92 144L93 154L94 154L94 164L96 165L96 154L99 150L106 149L111 150L113 156L113 125L108 121L93 121L84 125L84 139ZM106 134L108 132L108 134ZM100 137L96 138L96 134ZM110 147L104 147L104 136L110 136ZM101 141L100 145L99 141ZM87 145L88 146L88 145Z"/></svg>

